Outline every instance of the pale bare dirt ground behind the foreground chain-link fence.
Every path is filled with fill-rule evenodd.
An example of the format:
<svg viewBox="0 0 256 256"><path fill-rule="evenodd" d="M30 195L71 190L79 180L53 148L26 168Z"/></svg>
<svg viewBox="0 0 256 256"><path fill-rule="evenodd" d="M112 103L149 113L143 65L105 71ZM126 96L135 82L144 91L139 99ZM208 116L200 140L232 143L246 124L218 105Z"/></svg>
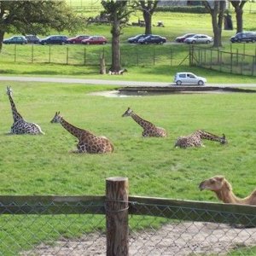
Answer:
<svg viewBox="0 0 256 256"><path fill-rule="evenodd" d="M192 223L166 224L160 230L132 232L130 255L183 256L191 254L224 255L230 250L256 245L256 228L235 229L227 224ZM106 236L93 233L79 240L56 241L20 255L92 256L106 255Z"/></svg>

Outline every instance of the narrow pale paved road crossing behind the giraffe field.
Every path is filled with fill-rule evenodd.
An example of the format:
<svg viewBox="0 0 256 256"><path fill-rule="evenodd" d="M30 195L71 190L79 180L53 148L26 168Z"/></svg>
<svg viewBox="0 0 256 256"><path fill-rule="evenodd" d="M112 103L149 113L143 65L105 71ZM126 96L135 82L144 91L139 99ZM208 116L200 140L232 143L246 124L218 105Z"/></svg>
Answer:
<svg viewBox="0 0 256 256"><path fill-rule="evenodd" d="M0 76L0 81L20 81L20 82L45 82L45 83L64 83L64 84L113 84L121 86L168 86L170 83L160 82L139 82L139 81L123 81L123 80L102 80L102 79L68 79L68 78L46 78L46 77L24 77L24 76ZM256 84L207 84L208 86L218 87L252 87L256 88Z"/></svg>

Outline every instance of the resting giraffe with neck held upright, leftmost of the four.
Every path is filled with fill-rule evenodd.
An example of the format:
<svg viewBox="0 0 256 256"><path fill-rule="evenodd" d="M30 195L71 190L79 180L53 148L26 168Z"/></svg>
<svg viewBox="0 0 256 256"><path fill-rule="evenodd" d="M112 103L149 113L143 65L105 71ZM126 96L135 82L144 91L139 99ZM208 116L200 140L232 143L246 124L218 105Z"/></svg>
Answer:
<svg viewBox="0 0 256 256"><path fill-rule="evenodd" d="M14 124L11 126L9 134L44 134L39 125L26 122L26 120L22 118L21 114L15 107L15 102L12 98L12 91L11 87L7 86L7 95L9 96L9 102L14 118Z"/></svg>

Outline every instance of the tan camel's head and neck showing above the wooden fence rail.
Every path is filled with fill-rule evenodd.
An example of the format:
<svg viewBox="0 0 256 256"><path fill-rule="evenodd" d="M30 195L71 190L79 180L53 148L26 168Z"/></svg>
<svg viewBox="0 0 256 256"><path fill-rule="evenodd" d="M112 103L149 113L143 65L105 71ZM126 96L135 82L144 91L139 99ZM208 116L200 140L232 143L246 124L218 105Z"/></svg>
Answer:
<svg viewBox="0 0 256 256"><path fill-rule="evenodd" d="M215 192L218 199L227 204L256 205L256 189L251 195L239 198L233 193L231 184L224 176L215 176L202 181L199 184L199 189Z"/></svg>

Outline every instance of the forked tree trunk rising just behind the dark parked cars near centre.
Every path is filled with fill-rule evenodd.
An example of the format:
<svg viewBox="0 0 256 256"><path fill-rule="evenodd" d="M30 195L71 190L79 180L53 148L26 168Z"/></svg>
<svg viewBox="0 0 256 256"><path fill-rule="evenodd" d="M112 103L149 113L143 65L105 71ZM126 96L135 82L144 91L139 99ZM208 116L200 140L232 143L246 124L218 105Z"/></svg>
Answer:
<svg viewBox="0 0 256 256"><path fill-rule="evenodd" d="M152 34L152 15L157 7L159 0L140 0L138 5L143 11L145 21L145 34Z"/></svg>

